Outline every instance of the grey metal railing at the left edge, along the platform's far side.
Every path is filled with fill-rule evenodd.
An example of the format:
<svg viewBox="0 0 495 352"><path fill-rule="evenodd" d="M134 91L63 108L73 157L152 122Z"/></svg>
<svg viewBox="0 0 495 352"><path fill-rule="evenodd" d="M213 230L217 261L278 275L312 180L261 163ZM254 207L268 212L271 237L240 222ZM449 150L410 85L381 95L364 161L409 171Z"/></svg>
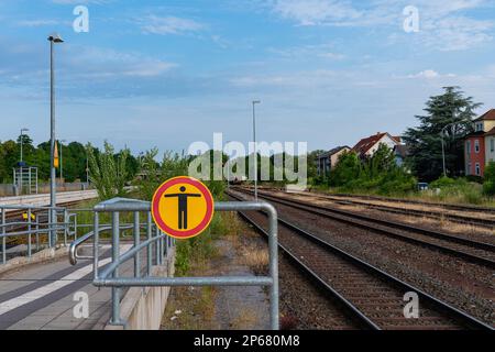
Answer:
<svg viewBox="0 0 495 352"><path fill-rule="evenodd" d="M50 221L52 212L55 212L55 222ZM42 218L45 218L46 222L41 221L40 219ZM61 233L64 234L64 243L67 244L68 228L68 212L66 208L0 205L0 264L6 264L8 261L8 245L21 238L25 238L25 240L20 242L25 242L25 255L28 257L33 255L33 245L35 252L44 248L55 248ZM51 233L55 235L51 237ZM44 234L46 234L45 239L43 239ZM22 255L23 252L18 254Z"/></svg>

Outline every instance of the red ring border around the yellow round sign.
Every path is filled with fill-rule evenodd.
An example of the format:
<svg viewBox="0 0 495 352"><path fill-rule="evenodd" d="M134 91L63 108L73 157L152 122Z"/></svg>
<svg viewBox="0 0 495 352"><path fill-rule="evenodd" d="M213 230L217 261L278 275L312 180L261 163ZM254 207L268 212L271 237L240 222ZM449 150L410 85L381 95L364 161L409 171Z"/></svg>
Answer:
<svg viewBox="0 0 495 352"><path fill-rule="evenodd" d="M174 229L170 229L160 216L160 200L162 199L164 193L177 185L177 184L188 184L194 187L196 187L205 197L205 200L207 202L207 213L202 221L194 229L187 230L187 231L176 231ZM213 218L213 197L211 196L210 190L198 179L193 177L174 177L165 183L162 184L162 186L158 187L158 189L155 191L155 195L153 196L152 201L152 216L155 220L155 223L158 226L158 228L164 231L166 234L176 238L176 239L190 239L198 234L200 234L202 231L205 231L206 228L211 222L211 219Z"/></svg>

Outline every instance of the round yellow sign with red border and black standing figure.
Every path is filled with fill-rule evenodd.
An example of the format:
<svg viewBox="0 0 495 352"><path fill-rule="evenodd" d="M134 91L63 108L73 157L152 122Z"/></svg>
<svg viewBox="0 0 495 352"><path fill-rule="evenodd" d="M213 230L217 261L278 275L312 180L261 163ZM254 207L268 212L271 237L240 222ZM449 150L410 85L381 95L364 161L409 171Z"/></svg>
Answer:
<svg viewBox="0 0 495 352"><path fill-rule="evenodd" d="M169 237L185 240L202 233L213 218L213 197L198 179L180 176L162 184L152 200L156 226Z"/></svg>

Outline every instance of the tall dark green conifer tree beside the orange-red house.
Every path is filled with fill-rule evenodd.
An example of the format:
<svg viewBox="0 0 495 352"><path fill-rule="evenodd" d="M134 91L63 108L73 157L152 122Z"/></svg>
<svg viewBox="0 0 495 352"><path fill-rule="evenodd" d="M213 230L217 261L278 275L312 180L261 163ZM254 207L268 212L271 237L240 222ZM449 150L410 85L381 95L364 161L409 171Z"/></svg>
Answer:
<svg viewBox="0 0 495 352"><path fill-rule="evenodd" d="M446 129L446 165L451 175L461 175L464 168L464 135L472 132L474 110L482 103L464 97L460 87L444 87L444 94L430 97L424 109L426 116L417 116L420 125L404 134L409 145L408 166L421 180L437 179L443 173L442 129Z"/></svg>

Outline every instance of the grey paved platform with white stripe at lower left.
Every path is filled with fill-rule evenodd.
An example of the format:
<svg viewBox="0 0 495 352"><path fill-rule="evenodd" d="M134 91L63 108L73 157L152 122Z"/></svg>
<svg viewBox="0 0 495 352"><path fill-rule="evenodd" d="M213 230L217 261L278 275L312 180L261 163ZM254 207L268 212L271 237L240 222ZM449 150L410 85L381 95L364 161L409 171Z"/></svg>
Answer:
<svg viewBox="0 0 495 352"><path fill-rule="evenodd" d="M121 253L131 244L122 244ZM110 263L109 246L100 266ZM142 262L145 262L142 260ZM133 261L120 270L131 276ZM89 296L89 318L78 319L74 307L79 302L74 295L84 292ZM110 317L110 288L92 285L92 262L82 261L76 266L68 258L34 264L0 275L0 330L77 330L103 329Z"/></svg>

